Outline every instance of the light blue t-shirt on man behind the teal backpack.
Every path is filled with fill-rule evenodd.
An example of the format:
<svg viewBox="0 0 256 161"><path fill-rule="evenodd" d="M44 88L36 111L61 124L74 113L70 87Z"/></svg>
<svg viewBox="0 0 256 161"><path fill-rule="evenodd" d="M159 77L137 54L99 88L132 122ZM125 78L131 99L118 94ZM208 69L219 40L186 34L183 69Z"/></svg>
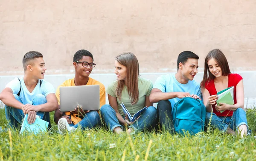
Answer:
<svg viewBox="0 0 256 161"><path fill-rule="evenodd" d="M187 84L181 84L175 78L175 73L158 77L153 88L157 88L162 92L188 92L190 95L196 94L202 98L201 88L198 82L189 80ZM172 107L174 107L174 104L179 100L180 99L176 97L169 99L169 102L171 102Z"/></svg>

